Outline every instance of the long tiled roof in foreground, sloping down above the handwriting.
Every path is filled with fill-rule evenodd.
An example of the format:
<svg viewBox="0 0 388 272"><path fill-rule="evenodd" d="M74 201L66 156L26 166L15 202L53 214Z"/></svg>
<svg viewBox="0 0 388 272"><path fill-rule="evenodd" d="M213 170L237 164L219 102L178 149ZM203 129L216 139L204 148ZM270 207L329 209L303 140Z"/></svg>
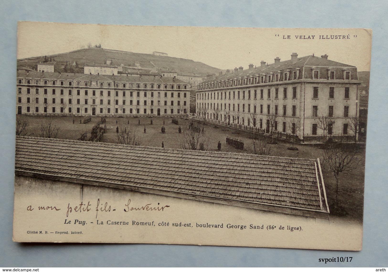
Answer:
<svg viewBox="0 0 388 272"><path fill-rule="evenodd" d="M15 167L19 174L328 212L313 159L16 136Z"/></svg>

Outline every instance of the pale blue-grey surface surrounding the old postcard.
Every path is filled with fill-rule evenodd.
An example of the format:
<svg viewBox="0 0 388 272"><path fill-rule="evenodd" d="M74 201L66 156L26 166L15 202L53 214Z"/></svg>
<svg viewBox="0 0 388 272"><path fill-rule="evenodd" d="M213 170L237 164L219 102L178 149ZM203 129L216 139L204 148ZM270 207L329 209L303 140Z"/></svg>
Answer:
<svg viewBox="0 0 388 272"><path fill-rule="evenodd" d="M386 1L0 1L0 267L386 267ZM372 63L365 171L364 244L360 252L143 244L12 242L17 21L62 23L371 28ZM318 262L352 256L351 263Z"/></svg>

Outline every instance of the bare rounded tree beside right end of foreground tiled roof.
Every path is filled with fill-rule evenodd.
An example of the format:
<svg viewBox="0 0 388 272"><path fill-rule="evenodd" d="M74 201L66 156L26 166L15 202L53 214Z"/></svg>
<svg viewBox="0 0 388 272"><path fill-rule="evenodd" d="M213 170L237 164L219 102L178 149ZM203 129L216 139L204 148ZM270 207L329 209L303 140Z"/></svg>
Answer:
<svg viewBox="0 0 388 272"><path fill-rule="evenodd" d="M357 169L360 163L360 158L357 157L357 150L349 145L340 143L332 143L327 148L321 150L323 157L323 167L333 172L336 179L336 195L334 200L334 207L338 204L338 187L340 183L339 175L342 172Z"/></svg>

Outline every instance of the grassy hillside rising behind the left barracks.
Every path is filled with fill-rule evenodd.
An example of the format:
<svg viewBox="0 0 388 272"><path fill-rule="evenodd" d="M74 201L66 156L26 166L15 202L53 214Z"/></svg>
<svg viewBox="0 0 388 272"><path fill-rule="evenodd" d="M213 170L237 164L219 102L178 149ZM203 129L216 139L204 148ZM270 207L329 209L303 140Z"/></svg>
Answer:
<svg viewBox="0 0 388 272"><path fill-rule="evenodd" d="M196 73L201 76L206 76L210 73L218 73L218 71L220 71L218 68L211 67L201 62L192 61L191 59L154 56L152 54L117 51L98 47L78 49L71 52L47 56L49 61L50 58L57 61L56 67L54 67L55 71L63 71L63 66L66 61L68 62L68 66L71 66L71 68L74 69L72 64L74 61L77 61L79 66L78 70L82 70L83 73L83 66L85 63L105 63L107 59L111 59L112 64L114 65L120 65L122 63L125 66L135 66L135 62L139 62L142 68L153 70L169 69L175 70L178 73ZM44 59L45 56L18 59L17 66L33 68L33 65L42 63ZM78 70L75 72L78 72Z"/></svg>

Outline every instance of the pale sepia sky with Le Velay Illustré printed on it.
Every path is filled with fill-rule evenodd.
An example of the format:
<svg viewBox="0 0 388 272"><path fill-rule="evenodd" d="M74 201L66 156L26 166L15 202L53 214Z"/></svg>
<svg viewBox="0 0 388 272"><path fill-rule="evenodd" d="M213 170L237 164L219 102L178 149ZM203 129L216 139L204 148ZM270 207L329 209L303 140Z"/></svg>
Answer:
<svg viewBox="0 0 388 272"><path fill-rule="evenodd" d="M328 35L328 36L326 36ZM314 37L313 37L314 36ZM325 37L325 39L323 39ZM330 37L333 37L330 38ZM344 38L345 37L345 38ZM19 22L17 58L49 56L88 44L105 49L192 59L226 70L274 58L327 54L369 71L372 31L365 29L210 28Z"/></svg>

